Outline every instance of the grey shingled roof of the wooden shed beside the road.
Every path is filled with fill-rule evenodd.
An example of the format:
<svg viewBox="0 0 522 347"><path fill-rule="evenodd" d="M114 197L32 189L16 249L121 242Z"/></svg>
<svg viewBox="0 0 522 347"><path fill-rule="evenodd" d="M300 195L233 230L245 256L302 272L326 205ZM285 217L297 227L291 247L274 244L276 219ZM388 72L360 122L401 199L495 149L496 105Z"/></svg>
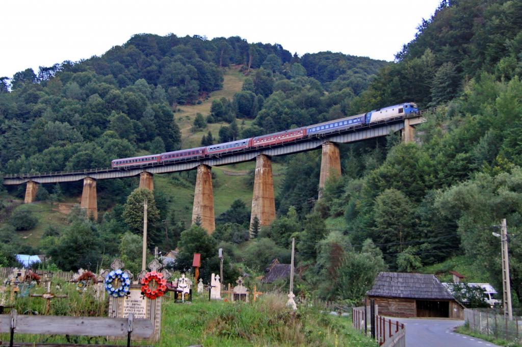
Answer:
<svg viewBox="0 0 522 347"><path fill-rule="evenodd" d="M455 300L433 274L380 272L369 296Z"/></svg>

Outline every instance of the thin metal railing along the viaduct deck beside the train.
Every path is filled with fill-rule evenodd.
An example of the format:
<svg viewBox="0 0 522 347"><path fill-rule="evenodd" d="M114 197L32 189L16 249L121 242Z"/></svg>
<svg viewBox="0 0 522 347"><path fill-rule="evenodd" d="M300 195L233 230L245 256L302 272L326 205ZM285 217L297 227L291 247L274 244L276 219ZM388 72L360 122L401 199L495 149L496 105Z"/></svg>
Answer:
<svg viewBox="0 0 522 347"><path fill-rule="evenodd" d="M375 123L371 123L371 124L366 124L366 125L360 125L360 126L357 126L357 127L354 127L354 128L349 128L349 129L346 129L346 130L338 130L338 131L334 131L333 133L331 134L317 134L317 135L313 135L313 137L310 137L310 138L303 138L303 139L299 139L297 140L297 142L306 142L306 141L310 141L310 140L313 140L315 138L324 138L324 137L335 137L339 134L344 134L344 133L353 133L353 131L359 131L359 130L365 130L367 128L372 128L372 127L375 127L375 126L381 126L381 125L386 125L386 124L390 124L390 123L396 123L397 121L402 121L406 118L420 118L422 117L422 114L425 113L426 111L423 110L423 111L419 111L419 112L416 112L414 114L408 114L408 115L402 115L402 116L398 116L398 117L394 117L394 118L389 118L389 119L384 119L383 121L379 121L379 122L375 122ZM288 146L288 143L282 143L280 145L276 145L276 146L270 146L270 148L272 147L284 147L284 146ZM261 150L266 150L267 148L261 148ZM260 150L259 148L246 148L244 150L241 150L241 151L237 151L237 152L231 152L231 153L223 153L223 154L220 154L218 155L218 157L221 157L222 155L236 155L236 154L241 154L241 153L244 153L245 151L248 152L248 151L256 151L256 150ZM199 159L185 159L185 160L182 160L180 162L192 162L192 161L198 161ZM178 163L178 162L176 162ZM169 163L169 164L176 164L176 163ZM38 177L49 177L49 176L68 176L68 175L78 175L78 174L93 174L93 173L105 173L105 172L120 172L122 170L132 170L132 169L148 169L150 167L155 167L155 166L162 166L162 165L165 165L165 163L148 163L148 164L143 164L143 165L140 165L140 166L133 166L133 167L129 167L128 169L113 169L112 167L98 167L98 168L95 168L95 169L83 169L83 170L70 170L70 171L52 171L52 172L38 172L38 173L21 173L21 174L5 174L3 177L4 178L38 178Z"/></svg>

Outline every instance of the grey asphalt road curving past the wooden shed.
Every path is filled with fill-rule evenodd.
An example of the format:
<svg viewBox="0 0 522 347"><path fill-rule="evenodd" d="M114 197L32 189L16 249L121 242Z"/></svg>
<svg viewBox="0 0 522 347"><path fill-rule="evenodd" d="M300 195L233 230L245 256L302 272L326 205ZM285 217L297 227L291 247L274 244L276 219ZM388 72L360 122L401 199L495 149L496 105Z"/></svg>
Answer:
<svg viewBox="0 0 522 347"><path fill-rule="evenodd" d="M400 318L406 325L406 347L499 347L453 329L464 320Z"/></svg>

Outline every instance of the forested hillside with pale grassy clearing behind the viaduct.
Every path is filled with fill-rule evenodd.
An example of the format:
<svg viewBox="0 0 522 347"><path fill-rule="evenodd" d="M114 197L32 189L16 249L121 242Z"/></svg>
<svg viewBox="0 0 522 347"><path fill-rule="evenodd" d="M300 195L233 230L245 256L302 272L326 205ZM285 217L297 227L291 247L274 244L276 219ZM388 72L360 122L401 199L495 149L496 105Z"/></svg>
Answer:
<svg viewBox="0 0 522 347"><path fill-rule="evenodd" d="M265 109L276 99L266 101L280 90L293 89L289 112L297 106L310 112L292 115L288 127L337 117L336 108L346 107L385 64L331 52L292 56L281 45L239 37L138 34L100 57L3 77L0 171L106 167L115 158L266 133L274 126L254 124L262 125L258 114L269 112ZM311 96L313 112L307 106ZM213 174L216 212L232 207L218 216L216 234L230 235L235 244L248 233L252 169L250 164L226 169L246 176L227 176L221 169ZM279 186L284 161L274 169ZM165 253L176 247L192 219L195 173L159 175L155 181L149 246ZM100 264L101 254L105 261L116 255L135 260L140 231L127 213L132 200L127 198L136 185L136 179L99 181L100 218L94 223L77 210L77 183L41 185L38 202L22 206L25 187L3 187L3 264L12 262L14 253L45 253L65 269ZM92 247L82 247L86 243Z"/></svg>

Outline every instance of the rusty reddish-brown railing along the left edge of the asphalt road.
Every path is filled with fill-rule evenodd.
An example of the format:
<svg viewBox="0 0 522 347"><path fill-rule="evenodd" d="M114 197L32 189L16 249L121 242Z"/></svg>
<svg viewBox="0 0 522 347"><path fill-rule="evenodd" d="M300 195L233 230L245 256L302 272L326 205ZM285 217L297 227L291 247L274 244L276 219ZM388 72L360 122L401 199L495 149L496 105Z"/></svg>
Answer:
<svg viewBox="0 0 522 347"><path fill-rule="evenodd" d="M371 307L362 306L352 309L353 327L361 333L370 332L372 337L382 347L406 347L406 328L398 320L393 320L378 315L378 307L375 305L373 320Z"/></svg>

